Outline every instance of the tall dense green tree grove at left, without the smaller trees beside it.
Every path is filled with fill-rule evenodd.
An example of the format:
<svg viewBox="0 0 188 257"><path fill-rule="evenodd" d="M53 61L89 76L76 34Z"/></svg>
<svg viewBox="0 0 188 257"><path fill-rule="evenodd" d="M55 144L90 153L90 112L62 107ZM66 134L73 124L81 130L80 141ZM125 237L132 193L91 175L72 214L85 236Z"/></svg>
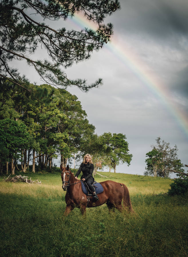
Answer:
<svg viewBox="0 0 188 257"><path fill-rule="evenodd" d="M5 164L11 158L16 159L11 152L14 150L21 154L24 172L31 159L30 152L33 153L33 171L35 158L41 169L49 166L51 170L52 159L57 158L57 154L66 165L67 158L80 150L87 135L93 134L95 129L86 119L78 98L50 85L30 85L31 94L23 94L19 87L15 91L11 86L5 81L5 90L0 90L1 149L9 150L9 153L1 150L0 161ZM15 130L16 126L20 129Z"/></svg>

